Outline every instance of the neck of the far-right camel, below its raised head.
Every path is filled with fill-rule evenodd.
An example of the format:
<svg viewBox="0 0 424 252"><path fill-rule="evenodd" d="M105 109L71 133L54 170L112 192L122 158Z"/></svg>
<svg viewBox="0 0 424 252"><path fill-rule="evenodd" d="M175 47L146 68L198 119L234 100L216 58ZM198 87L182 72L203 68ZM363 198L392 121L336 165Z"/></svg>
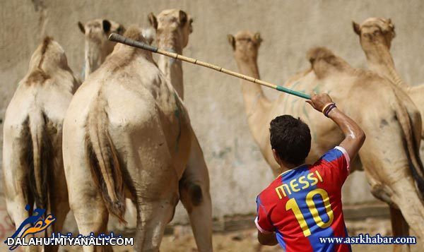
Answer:
<svg viewBox="0 0 424 252"><path fill-rule="evenodd" d="M399 88L407 89L408 85L396 71L389 48L384 44L376 44L372 50L365 50L370 70L391 80Z"/></svg>

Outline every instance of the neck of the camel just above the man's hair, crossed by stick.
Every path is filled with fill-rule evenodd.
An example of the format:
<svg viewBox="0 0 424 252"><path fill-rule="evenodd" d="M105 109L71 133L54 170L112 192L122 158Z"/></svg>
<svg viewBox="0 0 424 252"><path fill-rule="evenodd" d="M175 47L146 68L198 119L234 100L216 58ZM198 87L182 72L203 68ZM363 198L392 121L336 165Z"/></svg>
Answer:
<svg viewBox="0 0 424 252"><path fill-rule="evenodd" d="M240 73L259 79L257 59L237 59ZM249 126L255 128L261 125L260 120L268 111L271 102L265 97L261 86L246 80L241 80L243 100Z"/></svg>

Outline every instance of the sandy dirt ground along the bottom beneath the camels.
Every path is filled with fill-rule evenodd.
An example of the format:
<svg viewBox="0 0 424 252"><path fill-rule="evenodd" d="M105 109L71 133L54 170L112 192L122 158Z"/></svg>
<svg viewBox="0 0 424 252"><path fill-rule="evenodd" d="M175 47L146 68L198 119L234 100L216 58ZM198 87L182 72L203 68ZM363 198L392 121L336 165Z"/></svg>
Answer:
<svg viewBox="0 0 424 252"><path fill-rule="evenodd" d="M390 235L389 220L366 219L362 221L346 222L349 235L355 236L360 233ZM273 252L282 251L279 246L261 246L257 242L257 230L252 228L233 232L216 232L213 234L213 250L219 252ZM392 251L391 245L354 245L353 251L361 252L388 252ZM64 251L81 251L81 248L65 248ZM115 247L114 251L132 251L131 247ZM175 227L174 234L163 238L160 251L165 252L195 252L196 244L189 227ZM412 245L411 252L423 251L422 245Z"/></svg>

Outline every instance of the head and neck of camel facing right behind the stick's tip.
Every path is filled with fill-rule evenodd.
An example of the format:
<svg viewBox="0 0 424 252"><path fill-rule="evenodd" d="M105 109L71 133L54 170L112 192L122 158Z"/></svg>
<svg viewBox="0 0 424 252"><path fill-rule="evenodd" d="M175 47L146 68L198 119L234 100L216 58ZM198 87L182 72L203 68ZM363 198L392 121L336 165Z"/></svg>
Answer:
<svg viewBox="0 0 424 252"><path fill-rule="evenodd" d="M78 22L78 27L86 40L83 68L83 78L86 79L112 52L116 42L107 39L110 33L115 32L122 35L125 28L123 25L107 19L90 20L85 25Z"/></svg>

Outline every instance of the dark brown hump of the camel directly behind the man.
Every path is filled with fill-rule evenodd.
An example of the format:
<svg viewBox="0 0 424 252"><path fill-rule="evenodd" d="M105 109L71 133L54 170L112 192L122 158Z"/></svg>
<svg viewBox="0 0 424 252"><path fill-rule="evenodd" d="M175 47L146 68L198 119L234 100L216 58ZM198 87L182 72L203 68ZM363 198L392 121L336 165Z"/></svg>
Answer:
<svg viewBox="0 0 424 252"><path fill-rule="evenodd" d="M307 52L307 59L310 61L312 70L318 78L324 78L329 71L335 69L342 71L348 67L346 61L336 56L326 47L314 47Z"/></svg>

